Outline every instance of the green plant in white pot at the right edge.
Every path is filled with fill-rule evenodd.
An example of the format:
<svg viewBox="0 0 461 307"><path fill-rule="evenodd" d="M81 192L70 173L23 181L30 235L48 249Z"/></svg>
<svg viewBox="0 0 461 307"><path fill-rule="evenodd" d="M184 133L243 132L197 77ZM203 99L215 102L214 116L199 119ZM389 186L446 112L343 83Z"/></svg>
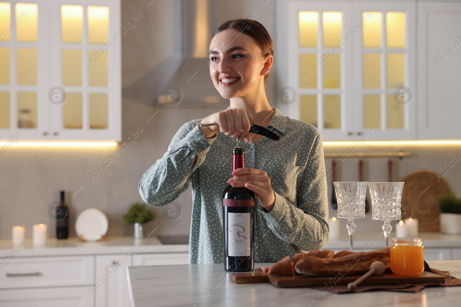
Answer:
<svg viewBox="0 0 461 307"><path fill-rule="evenodd" d="M440 211L440 231L448 234L461 234L461 198L453 192L445 193L438 199Z"/></svg>

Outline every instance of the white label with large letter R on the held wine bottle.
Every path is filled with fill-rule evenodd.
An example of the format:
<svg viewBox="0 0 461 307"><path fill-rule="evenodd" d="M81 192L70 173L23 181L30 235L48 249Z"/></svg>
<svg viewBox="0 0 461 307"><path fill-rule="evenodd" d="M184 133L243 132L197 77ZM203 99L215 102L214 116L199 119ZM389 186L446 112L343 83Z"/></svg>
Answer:
<svg viewBox="0 0 461 307"><path fill-rule="evenodd" d="M227 213L228 256L250 255L250 213Z"/></svg>

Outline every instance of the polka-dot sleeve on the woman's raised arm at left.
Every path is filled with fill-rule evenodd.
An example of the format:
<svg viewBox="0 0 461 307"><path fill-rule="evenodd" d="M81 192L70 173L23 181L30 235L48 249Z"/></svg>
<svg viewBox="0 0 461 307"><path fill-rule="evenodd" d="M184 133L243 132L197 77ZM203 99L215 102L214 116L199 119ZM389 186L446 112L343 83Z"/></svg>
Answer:
<svg viewBox="0 0 461 307"><path fill-rule="evenodd" d="M205 138L198 122L186 122L171 140L168 151L142 175L138 189L145 203L162 207L188 189L190 175L205 161L216 139Z"/></svg>

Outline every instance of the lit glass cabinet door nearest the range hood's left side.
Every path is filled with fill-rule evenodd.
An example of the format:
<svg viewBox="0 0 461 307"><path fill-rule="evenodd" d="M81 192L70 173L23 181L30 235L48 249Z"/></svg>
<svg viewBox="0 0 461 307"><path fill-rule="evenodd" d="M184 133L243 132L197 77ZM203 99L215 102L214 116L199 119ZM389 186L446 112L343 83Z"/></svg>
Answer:
<svg viewBox="0 0 461 307"><path fill-rule="evenodd" d="M52 104L55 139L120 140L119 6L114 2L54 1ZM111 35L112 34L112 35Z"/></svg>

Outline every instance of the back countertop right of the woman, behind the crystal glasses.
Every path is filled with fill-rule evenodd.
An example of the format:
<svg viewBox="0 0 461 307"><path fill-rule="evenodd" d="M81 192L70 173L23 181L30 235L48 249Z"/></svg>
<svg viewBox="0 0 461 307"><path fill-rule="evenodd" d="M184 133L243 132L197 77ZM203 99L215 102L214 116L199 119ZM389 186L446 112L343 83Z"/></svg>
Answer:
<svg viewBox="0 0 461 307"><path fill-rule="evenodd" d="M390 237L393 235L395 235L394 230L392 230ZM419 232L418 237L421 238L425 248L461 247L461 235L447 235L441 232ZM359 251L365 247L369 249L384 249L384 234L382 232L355 232L354 250ZM340 233L340 237L328 239L322 249L349 249L349 236L346 229Z"/></svg>

